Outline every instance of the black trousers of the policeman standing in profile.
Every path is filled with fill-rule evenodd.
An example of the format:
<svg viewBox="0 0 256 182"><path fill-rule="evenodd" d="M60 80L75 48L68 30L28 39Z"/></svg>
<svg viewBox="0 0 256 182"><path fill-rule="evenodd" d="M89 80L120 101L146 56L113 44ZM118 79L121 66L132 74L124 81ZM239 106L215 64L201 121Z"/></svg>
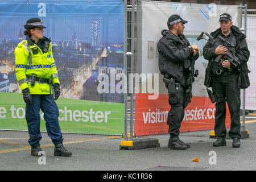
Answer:
<svg viewBox="0 0 256 182"><path fill-rule="evenodd" d="M173 85L167 85L169 104L171 109L167 115L167 125L169 125L168 133L171 138L178 137L180 134L181 122L184 118L184 87L180 84L175 84L175 88L171 88ZM171 91L174 90L174 91Z"/></svg>

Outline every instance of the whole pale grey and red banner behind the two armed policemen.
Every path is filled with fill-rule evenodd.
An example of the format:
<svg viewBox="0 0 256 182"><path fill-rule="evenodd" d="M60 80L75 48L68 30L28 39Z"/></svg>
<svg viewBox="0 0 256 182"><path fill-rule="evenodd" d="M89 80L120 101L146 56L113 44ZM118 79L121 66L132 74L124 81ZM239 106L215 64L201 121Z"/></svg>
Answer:
<svg viewBox="0 0 256 182"><path fill-rule="evenodd" d="M199 59L196 60L195 69L199 75L192 86L192 102L185 108L185 116L180 131L212 130L214 129L215 105L210 102L206 87L204 86L205 69L208 60L203 57L203 47L206 40L197 41L201 32L215 31L220 27L218 22L222 13L232 16L233 25L238 26L238 6L225 6L210 3L209 5L194 3L172 3L156 1L138 1L138 50L137 59L141 60L141 74L154 75L154 83L148 77L142 78L141 85L159 87L159 96L156 99L148 99L147 92L136 94L135 124L136 135L152 135L168 133L167 114L171 109L168 104L168 92L163 82L163 75L158 67L157 44L162 38L161 31L167 30L167 20L173 14L178 14L188 23L185 23L184 35L191 45L199 47ZM150 31L148 31L150 30ZM159 75L156 80L156 75ZM156 89L156 88L155 88ZM230 126L230 113L226 105L226 127Z"/></svg>

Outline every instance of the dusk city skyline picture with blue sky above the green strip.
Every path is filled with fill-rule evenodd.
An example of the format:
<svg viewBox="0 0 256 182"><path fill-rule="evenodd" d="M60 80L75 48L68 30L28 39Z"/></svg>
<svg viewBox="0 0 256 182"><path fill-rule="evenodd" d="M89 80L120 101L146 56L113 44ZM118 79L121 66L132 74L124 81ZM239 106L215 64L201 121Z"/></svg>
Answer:
<svg viewBox="0 0 256 182"><path fill-rule="evenodd" d="M36 3L15 5L16 11L5 14L0 22L0 92L20 93L15 77L14 49L25 39L23 25L27 19L38 17L47 27L44 36L52 40L61 97L90 100L88 93L97 94L97 87L89 82L97 79L99 68L106 68L106 73L110 69L118 69L118 73L123 69L123 5L121 1L115 3L118 6L95 4L94 9L89 5L51 4L51 7L46 6L46 16L42 17L38 17L38 11L30 13L31 7L38 9ZM0 16L4 16L5 8L0 7ZM22 16L17 16L20 14ZM92 100L123 102L121 97L118 100L113 96L104 97Z"/></svg>

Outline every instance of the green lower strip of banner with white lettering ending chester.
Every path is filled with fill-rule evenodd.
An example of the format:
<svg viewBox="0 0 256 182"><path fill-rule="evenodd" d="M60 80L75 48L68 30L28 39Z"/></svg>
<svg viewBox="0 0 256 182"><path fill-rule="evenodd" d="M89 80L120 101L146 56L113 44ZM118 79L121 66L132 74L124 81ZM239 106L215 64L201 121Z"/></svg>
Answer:
<svg viewBox="0 0 256 182"><path fill-rule="evenodd" d="M18 93L0 92L0 128L27 130L26 106ZM59 98L59 123L61 131L88 134L122 135L120 118L124 115L122 103ZM40 112L40 129L46 131L46 122Z"/></svg>

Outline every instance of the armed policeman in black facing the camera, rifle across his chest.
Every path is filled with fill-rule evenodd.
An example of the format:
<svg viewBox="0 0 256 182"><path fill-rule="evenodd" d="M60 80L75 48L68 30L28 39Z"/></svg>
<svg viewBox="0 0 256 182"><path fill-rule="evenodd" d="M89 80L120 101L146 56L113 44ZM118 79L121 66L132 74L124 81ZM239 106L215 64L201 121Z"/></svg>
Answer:
<svg viewBox="0 0 256 182"><path fill-rule="evenodd" d="M216 114L214 131L218 139L213 146L226 146L226 102L231 117L229 137L233 139L233 147L240 147L240 72L248 72L247 61L250 52L246 43L246 36L233 25L232 17L228 13L220 15L220 28L210 33L214 42L208 41L203 49L203 56L209 60L205 73L205 86L212 87L216 100ZM228 41L229 45L224 46ZM220 45L220 46L215 46ZM230 64L226 53L228 48L234 52L238 65ZM216 57L221 57L216 61ZM243 83L242 83L243 84Z"/></svg>

